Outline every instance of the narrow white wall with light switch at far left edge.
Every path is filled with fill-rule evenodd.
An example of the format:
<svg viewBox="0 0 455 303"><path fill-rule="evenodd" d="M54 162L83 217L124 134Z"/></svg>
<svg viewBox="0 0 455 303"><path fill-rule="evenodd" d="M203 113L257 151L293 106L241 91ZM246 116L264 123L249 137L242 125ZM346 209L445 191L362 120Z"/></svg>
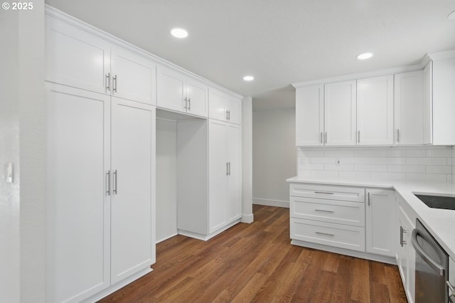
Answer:
<svg viewBox="0 0 455 303"><path fill-rule="evenodd" d="M0 11L0 41L0 301L14 303L20 297L18 14ZM12 184L8 162L15 166Z"/></svg>

